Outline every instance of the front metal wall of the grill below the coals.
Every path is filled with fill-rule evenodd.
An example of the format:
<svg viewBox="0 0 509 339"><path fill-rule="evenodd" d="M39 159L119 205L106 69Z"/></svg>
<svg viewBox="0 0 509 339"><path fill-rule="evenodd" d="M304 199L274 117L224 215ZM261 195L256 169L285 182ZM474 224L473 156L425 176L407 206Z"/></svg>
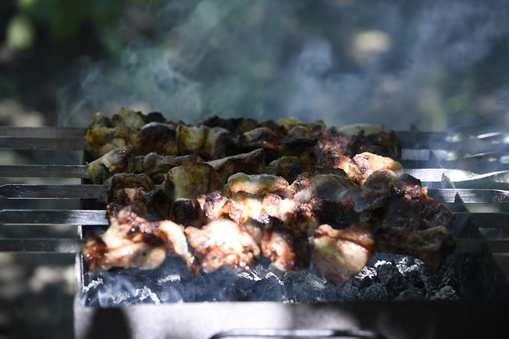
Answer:
<svg viewBox="0 0 509 339"><path fill-rule="evenodd" d="M212 302L75 308L75 339L210 338L224 331L366 329L390 339L506 338L507 303L400 301Z"/></svg>

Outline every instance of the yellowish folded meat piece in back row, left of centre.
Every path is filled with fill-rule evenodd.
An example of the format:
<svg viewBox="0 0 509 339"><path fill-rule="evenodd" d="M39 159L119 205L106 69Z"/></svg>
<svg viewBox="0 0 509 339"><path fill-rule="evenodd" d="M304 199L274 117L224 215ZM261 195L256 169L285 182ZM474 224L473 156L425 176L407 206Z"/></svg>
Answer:
<svg viewBox="0 0 509 339"><path fill-rule="evenodd" d="M197 154L205 160L215 160L226 155L230 142L228 130L207 126L177 126L177 140L180 155Z"/></svg>

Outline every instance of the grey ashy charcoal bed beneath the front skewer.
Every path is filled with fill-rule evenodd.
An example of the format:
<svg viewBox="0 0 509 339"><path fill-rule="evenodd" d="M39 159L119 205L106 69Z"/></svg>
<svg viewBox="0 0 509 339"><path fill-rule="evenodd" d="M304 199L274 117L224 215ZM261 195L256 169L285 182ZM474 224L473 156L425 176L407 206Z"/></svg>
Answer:
<svg viewBox="0 0 509 339"><path fill-rule="evenodd" d="M87 272L83 286L83 304L101 307L204 301L459 299L457 281L448 265L434 271L420 260L388 254L374 255L343 290L327 283L313 267L283 273L267 260L249 271L218 270L195 275L175 258L168 258L162 267L150 271Z"/></svg>

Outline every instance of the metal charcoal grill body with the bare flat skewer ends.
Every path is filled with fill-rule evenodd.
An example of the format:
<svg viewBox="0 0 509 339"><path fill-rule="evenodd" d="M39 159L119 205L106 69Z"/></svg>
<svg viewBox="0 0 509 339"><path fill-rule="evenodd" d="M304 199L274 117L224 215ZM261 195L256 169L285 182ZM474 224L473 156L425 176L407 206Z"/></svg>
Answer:
<svg viewBox="0 0 509 339"><path fill-rule="evenodd" d="M83 150L84 129L0 128L0 148ZM448 337L490 333L503 336L504 300L509 288L493 254L509 253L505 238L509 213L509 135L478 136L400 131L405 171L430 188L430 196L456 214L453 234L457 249L451 265L461 282L460 301L362 302L282 304L278 302L221 302L136 305L103 309L82 302L83 273L79 249L83 230L107 225L104 210L93 199L101 188L86 184L17 184L0 187L11 199L80 199L75 210L0 210L3 225L76 225L75 238L0 239L0 252L76 253L77 286L75 336L108 333L126 337ZM86 178L84 166L4 165L2 177ZM490 211L477 206L490 206ZM467 281L468 279L468 281ZM470 310L467 313L467 310ZM443 321L440 317L447 317ZM253 316L256 315L256 316ZM479 317L483 326L465 324L462 317ZM417 319L428 321L417 322ZM430 322L433 326L430 327ZM107 326L103 326L107 325ZM426 326L425 326L426 325ZM461 325L461 329L457 326ZM451 332L453 331L454 332ZM500 332L497 332L500 331Z"/></svg>

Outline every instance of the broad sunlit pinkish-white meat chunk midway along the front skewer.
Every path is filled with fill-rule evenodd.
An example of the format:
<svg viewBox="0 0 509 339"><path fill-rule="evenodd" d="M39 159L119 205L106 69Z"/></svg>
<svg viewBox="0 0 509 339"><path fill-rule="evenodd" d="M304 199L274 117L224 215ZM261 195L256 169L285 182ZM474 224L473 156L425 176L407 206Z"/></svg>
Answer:
<svg viewBox="0 0 509 339"><path fill-rule="evenodd" d="M201 229L189 226L185 233L206 273L221 267L250 269L260 259L260 247L251 236L252 230L231 220L218 219Z"/></svg>

